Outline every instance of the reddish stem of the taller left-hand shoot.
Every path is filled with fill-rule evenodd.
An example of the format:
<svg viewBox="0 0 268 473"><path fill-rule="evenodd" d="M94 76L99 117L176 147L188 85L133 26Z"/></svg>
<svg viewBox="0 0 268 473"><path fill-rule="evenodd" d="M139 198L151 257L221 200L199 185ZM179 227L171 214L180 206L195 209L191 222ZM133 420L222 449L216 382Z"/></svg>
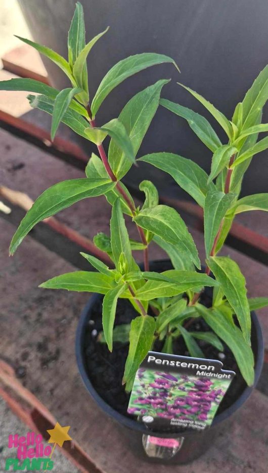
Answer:
<svg viewBox="0 0 268 473"><path fill-rule="evenodd" d="M86 107L86 111L88 113L88 116L90 117L89 122L90 122L91 127L95 128L96 127L96 121L92 120L92 118L91 118L92 113L91 113L91 108L90 108L89 104ZM117 191L123 197L123 199L126 202L128 208L130 209L130 212L131 212L132 216L134 217L135 214L136 214L136 208L132 204L131 200L129 199L129 197L126 194L126 192L124 191L124 189L122 188L120 182L117 181L117 178L116 178L115 174L113 173L113 171L111 169L111 166L108 162L108 158L107 158L106 152L104 150L103 144L102 143L98 144L97 147L98 147L98 150L99 150L99 153L100 153L100 156L101 156L101 160L103 162L103 165L106 169L106 172L107 172L108 176L110 177L111 181L116 182L115 187L116 187ZM148 243L147 243L143 228L141 228L141 227L139 227L139 225L137 225L137 229L138 229L139 235L141 237L142 243L144 245L146 245L146 248L143 250L144 271L149 271L150 269L149 269Z"/></svg>

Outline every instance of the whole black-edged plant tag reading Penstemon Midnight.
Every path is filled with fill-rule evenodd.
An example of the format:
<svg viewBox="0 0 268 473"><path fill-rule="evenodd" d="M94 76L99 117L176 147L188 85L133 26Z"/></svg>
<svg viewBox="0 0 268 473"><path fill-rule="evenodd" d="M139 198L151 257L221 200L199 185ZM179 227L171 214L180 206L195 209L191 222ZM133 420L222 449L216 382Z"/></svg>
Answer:
<svg viewBox="0 0 268 473"><path fill-rule="evenodd" d="M149 429L204 430L235 373L218 360L149 351L133 384L128 409Z"/></svg>

